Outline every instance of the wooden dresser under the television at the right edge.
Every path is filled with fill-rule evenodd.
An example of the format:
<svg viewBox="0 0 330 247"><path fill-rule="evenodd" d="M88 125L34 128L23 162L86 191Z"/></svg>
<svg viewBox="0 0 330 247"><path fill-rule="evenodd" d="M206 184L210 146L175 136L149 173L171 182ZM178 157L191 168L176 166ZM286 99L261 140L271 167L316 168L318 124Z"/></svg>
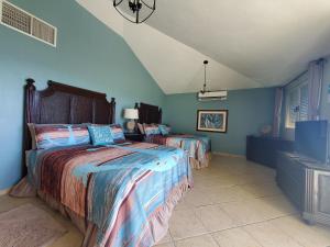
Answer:
<svg viewBox="0 0 330 247"><path fill-rule="evenodd" d="M278 153L276 181L308 223L330 225L330 166Z"/></svg>

